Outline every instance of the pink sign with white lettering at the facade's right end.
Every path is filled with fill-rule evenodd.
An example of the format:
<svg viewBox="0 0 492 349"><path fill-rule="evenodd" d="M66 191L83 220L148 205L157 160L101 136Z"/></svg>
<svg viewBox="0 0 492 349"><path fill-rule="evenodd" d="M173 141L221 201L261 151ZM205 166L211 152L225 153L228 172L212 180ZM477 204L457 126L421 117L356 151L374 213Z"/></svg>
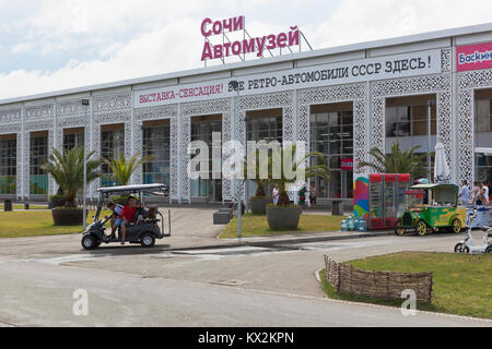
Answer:
<svg viewBox="0 0 492 349"><path fill-rule="evenodd" d="M492 68L492 43L459 46L458 72Z"/></svg>

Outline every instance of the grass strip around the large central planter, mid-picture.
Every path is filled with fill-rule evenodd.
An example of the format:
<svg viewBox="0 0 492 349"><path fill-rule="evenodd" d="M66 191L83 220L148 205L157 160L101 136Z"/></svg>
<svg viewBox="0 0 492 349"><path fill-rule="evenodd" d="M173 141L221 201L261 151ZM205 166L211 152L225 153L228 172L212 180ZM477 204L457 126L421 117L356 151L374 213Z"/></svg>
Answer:
<svg viewBox="0 0 492 349"><path fill-rule="evenodd" d="M300 232L320 232L320 231L339 231L342 216L320 216L306 215L301 216L301 222L297 230L271 230L268 227L267 216L258 216L247 214L243 217L243 238L278 236ZM237 238L237 218L234 218L229 226L222 231L220 239Z"/></svg>

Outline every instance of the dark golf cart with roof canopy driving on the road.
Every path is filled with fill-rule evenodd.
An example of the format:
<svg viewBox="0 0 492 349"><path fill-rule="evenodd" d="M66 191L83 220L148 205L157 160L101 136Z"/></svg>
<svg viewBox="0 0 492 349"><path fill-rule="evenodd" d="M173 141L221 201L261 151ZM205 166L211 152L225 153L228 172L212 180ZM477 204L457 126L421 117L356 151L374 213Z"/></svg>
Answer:
<svg viewBox="0 0 492 349"><path fill-rule="evenodd" d="M103 205L109 202L113 195L132 195L136 198L139 198L139 202L143 204L144 194L164 196L166 190L167 185L165 184L127 185L99 189L99 200L97 203L97 210L94 216L94 222L91 224L83 232L82 246L85 250L94 250L102 243L121 242L120 237L112 239L105 233L105 227L110 220L110 217L106 220L101 219ZM154 213L151 213L147 208L139 208L137 210L134 221L127 226L127 242L140 243L143 248L152 248L155 244L155 239L168 237L164 234L163 215L159 212L157 207L154 207L153 210ZM160 219L157 219L157 216Z"/></svg>

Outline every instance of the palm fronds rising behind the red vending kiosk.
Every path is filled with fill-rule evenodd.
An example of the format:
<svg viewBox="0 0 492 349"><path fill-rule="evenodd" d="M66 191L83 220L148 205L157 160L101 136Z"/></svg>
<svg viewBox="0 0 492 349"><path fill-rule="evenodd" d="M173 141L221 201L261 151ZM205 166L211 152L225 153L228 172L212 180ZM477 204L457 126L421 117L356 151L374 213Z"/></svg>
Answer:
<svg viewBox="0 0 492 349"><path fill-rule="evenodd" d="M368 154L375 159L374 163L360 163L359 169L371 167L379 173L410 173L413 178L425 174L423 159L427 154L415 155L420 145L410 151L402 152L400 145L395 143L391 146L391 154L385 154L379 148L372 148Z"/></svg>

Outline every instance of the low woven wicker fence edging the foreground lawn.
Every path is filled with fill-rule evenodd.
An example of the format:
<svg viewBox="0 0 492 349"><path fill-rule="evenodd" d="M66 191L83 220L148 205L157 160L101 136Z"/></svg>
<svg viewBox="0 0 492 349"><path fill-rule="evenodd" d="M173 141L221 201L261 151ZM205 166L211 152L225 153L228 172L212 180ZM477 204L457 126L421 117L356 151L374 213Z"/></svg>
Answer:
<svg viewBox="0 0 492 349"><path fill-rule="evenodd" d="M335 287L337 293L394 300L401 299L405 290L413 290L418 301L424 303L432 301L434 272L415 274L367 272L345 263L337 263L326 255L325 262L327 280Z"/></svg>

